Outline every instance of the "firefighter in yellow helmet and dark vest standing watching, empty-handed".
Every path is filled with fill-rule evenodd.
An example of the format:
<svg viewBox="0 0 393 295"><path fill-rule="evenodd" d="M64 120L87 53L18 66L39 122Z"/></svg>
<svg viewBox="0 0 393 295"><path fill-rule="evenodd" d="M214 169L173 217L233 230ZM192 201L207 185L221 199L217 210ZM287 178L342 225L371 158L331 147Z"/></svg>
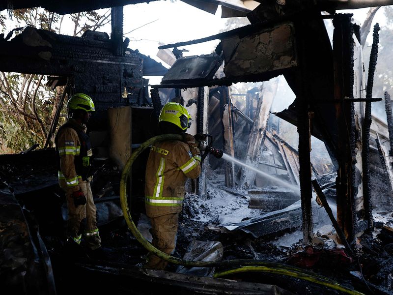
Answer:
<svg viewBox="0 0 393 295"><path fill-rule="evenodd" d="M58 129L55 138L58 182L65 192L68 207L66 245L77 248L83 234L87 247L95 250L101 246L101 238L89 183L92 151L85 125L95 111L94 103L90 96L76 93L68 100L67 108L68 120Z"/></svg>

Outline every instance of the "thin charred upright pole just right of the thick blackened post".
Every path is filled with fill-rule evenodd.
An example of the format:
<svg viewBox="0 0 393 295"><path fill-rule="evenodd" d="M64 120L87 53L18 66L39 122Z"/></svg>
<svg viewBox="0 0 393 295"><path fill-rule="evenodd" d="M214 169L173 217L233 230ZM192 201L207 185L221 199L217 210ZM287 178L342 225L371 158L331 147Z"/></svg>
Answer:
<svg viewBox="0 0 393 295"><path fill-rule="evenodd" d="M370 62L368 65L368 77L366 98L371 98L372 87L374 83L375 67L378 59L378 43L379 43L379 25L374 26L373 42L371 46ZM371 126L371 102L365 103L365 119L363 123L363 189L364 189L364 202L365 202L365 217L367 219L368 228L372 228L372 202L371 202L371 184L370 184L370 126Z"/></svg>

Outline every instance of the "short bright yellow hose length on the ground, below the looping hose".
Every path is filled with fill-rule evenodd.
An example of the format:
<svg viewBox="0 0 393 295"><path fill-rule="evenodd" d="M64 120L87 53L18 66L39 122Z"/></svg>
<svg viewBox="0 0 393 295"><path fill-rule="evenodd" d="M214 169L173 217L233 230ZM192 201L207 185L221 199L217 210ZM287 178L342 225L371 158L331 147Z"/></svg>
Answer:
<svg viewBox="0 0 393 295"><path fill-rule="evenodd" d="M215 278L224 277L230 274L240 273L240 272L250 272L250 271L261 271L267 273L281 274L286 276L291 276L297 279L309 281L318 285L322 285L337 291L341 291L350 295L364 295L363 293L345 288L336 282L326 282L321 281L319 278L309 276L305 273L301 273L294 270L282 269L277 267L268 267L268 266L243 266L235 269L225 270L222 272L217 272L214 274Z"/></svg>

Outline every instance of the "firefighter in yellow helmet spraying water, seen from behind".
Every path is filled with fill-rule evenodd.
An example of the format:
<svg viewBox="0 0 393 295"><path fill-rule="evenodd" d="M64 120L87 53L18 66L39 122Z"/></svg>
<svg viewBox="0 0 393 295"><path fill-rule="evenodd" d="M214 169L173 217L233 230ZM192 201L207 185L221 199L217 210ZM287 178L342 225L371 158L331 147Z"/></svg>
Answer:
<svg viewBox="0 0 393 295"><path fill-rule="evenodd" d="M183 141L165 140L150 149L145 177L145 207L151 221L152 244L164 253L175 248L178 216L182 210L187 177L200 174L200 152L195 138L185 133L191 125L187 109L168 102L158 126L162 134L181 134ZM149 253L143 267L164 269L167 262Z"/></svg>

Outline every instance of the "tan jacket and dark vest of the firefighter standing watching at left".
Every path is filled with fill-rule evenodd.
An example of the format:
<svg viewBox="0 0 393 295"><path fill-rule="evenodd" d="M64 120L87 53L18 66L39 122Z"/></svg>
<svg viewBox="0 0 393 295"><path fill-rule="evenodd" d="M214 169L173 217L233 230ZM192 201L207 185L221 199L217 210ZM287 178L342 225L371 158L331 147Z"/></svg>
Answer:
<svg viewBox="0 0 393 295"><path fill-rule="evenodd" d="M92 152L85 131L86 127L73 118L69 118L57 131L55 138L57 170L59 185L62 188L78 191L79 182L90 177Z"/></svg>

